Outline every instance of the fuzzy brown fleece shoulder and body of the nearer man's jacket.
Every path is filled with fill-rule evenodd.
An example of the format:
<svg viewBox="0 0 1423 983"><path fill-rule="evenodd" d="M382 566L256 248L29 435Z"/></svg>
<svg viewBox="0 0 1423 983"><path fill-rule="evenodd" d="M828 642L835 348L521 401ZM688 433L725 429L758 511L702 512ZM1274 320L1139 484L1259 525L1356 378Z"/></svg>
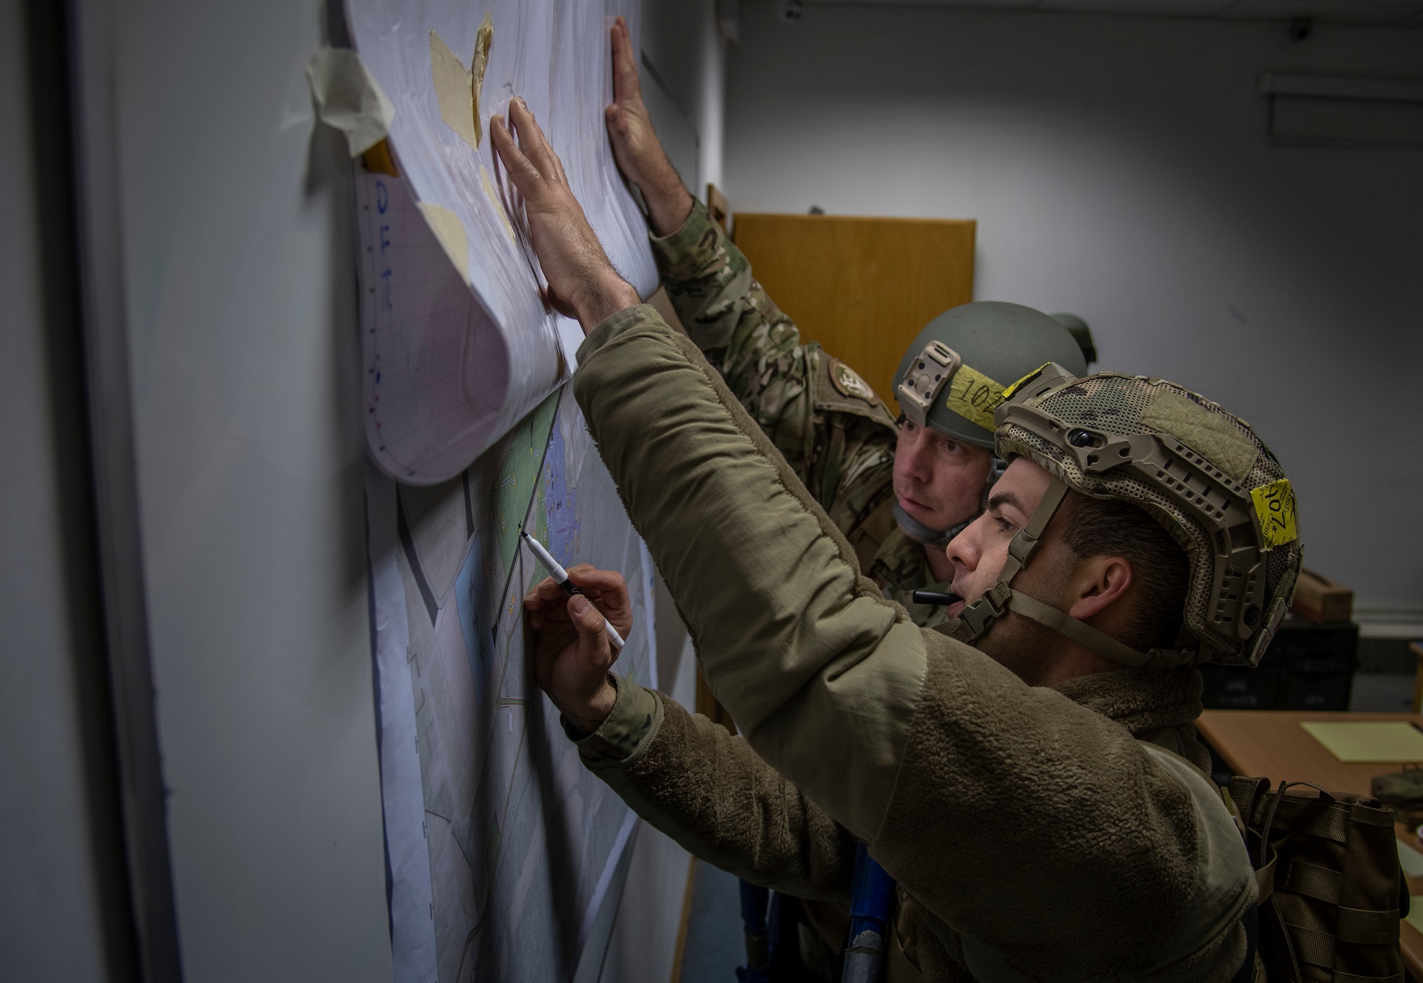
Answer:
<svg viewBox="0 0 1423 983"><path fill-rule="evenodd" d="M1255 878L1218 790L1114 720L925 634L924 698L869 851L961 932L973 976L1229 980Z"/></svg>

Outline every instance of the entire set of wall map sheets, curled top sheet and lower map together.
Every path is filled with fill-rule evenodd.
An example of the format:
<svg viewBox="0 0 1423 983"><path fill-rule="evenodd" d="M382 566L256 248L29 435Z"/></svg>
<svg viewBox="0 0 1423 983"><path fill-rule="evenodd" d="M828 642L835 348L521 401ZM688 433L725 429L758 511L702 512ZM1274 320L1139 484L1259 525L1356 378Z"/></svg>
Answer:
<svg viewBox="0 0 1423 983"><path fill-rule="evenodd" d="M623 898L639 824L534 684L521 599L546 572L518 526L566 566L626 578L635 622L616 670L646 686L655 572L564 386L582 331L541 297L488 134L522 97L609 257L650 293L646 223L603 129L608 33L619 14L636 33L638 4L346 9L356 74L379 87L347 105L388 122L384 156L359 169L356 218L394 979L595 983L620 952L619 919L676 899ZM340 81L313 80L313 94Z"/></svg>

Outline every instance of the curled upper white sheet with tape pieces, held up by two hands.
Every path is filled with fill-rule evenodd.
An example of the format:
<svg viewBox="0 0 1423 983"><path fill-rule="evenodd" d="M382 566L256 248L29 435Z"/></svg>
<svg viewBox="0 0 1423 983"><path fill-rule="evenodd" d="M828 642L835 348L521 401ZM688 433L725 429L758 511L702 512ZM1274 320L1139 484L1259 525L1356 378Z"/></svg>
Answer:
<svg viewBox="0 0 1423 983"><path fill-rule="evenodd" d="M647 296L646 223L612 158L608 31L632 0L347 0L393 110L398 176L357 178L370 454L407 484L460 474L565 381L582 331L546 307L527 223L488 138L524 98L613 265Z"/></svg>

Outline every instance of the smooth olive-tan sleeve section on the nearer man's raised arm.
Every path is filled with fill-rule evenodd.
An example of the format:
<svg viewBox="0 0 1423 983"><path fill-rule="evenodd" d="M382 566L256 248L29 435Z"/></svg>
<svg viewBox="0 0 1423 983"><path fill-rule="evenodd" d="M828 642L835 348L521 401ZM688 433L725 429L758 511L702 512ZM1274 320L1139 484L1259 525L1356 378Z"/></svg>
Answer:
<svg viewBox="0 0 1423 983"><path fill-rule="evenodd" d="M573 393L751 747L855 835L879 828L925 647L686 337L647 306L583 341Z"/></svg>

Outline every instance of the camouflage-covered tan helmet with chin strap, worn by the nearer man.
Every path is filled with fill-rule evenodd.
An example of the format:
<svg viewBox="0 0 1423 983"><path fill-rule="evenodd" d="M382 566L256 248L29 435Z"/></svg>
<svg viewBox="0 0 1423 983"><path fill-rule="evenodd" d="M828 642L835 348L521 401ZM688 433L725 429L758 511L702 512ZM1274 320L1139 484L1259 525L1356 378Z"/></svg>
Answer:
<svg viewBox="0 0 1423 983"><path fill-rule="evenodd" d="M959 615L955 637L972 642L1015 610L1126 666L1259 664L1295 590L1302 546L1289 479L1249 424L1161 378L1076 378L1057 364L1010 386L995 420L998 454L1029 458L1053 482L1013 536L998 583ZM1185 549L1191 575L1175 649L1137 652L1009 586L1069 488L1141 506Z"/></svg>

